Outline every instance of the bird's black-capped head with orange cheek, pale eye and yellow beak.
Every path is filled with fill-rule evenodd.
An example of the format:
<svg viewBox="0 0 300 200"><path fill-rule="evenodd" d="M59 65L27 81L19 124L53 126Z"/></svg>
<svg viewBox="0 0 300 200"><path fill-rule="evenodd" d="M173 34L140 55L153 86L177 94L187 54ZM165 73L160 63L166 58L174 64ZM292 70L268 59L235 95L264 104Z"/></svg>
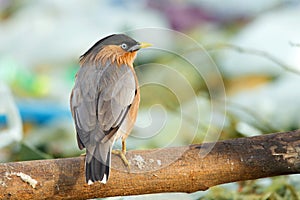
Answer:
<svg viewBox="0 0 300 200"><path fill-rule="evenodd" d="M125 34L109 35L94 44L80 57L80 63L107 61L117 65L127 64L132 66L136 53L141 48L151 46L149 43L137 42Z"/></svg>

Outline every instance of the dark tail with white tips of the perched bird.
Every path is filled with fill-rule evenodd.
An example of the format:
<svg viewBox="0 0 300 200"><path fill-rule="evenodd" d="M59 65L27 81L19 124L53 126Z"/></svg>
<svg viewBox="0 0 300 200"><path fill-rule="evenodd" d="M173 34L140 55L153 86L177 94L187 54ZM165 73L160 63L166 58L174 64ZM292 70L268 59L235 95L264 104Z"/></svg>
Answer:
<svg viewBox="0 0 300 200"><path fill-rule="evenodd" d="M109 178L112 143L98 144L87 148L85 160L85 177L88 184L100 181L106 183Z"/></svg>

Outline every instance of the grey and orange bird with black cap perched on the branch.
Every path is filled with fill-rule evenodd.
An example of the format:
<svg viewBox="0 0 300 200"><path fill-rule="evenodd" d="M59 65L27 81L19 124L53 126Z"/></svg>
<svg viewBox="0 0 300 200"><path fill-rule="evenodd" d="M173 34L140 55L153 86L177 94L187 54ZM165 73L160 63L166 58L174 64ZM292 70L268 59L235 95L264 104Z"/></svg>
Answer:
<svg viewBox="0 0 300 200"><path fill-rule="evenodd" d="M100 39L79 58L79 70L70 95L77 144L86 149L86 183L106 184L111 153L126 165L126 138L133 129L140 102L138 79L133 67L137 51L151 46L125 34ZM113 150L116 140L122 150Z"/></svg>

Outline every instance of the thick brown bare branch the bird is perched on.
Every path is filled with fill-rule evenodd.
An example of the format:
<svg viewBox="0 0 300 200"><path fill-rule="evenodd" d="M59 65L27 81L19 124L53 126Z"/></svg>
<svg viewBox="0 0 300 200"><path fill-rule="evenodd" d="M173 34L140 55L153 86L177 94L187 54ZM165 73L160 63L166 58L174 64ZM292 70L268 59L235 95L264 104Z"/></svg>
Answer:
<svg viewBox="0 0 300 200"><path fill-rule="evenodd" d="M212 150L203 157L203 152ZM202 153L201 153L202 152ZM87 199L158 192L195 192L222 183L300 173L300 130L215 144L154 150L119 157L106 185L87 185L84 156L0 164L0 199Z"/></svg>

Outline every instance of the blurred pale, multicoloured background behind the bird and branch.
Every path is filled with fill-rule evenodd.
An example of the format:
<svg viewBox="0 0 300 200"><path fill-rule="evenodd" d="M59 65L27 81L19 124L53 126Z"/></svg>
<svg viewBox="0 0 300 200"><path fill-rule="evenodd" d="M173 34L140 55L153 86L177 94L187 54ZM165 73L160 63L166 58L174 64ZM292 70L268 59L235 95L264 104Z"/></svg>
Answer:
<svg viewBox="0 0 300 200"><path fill-rule="evenodd" d="M135 62L141 106L129 150L298 129L299 23L297 0L0 0L0 162L83 153L69 110L78 59L119 32L153 43ZM141 198L297 199L299 190L290 175Z"/></svg>

